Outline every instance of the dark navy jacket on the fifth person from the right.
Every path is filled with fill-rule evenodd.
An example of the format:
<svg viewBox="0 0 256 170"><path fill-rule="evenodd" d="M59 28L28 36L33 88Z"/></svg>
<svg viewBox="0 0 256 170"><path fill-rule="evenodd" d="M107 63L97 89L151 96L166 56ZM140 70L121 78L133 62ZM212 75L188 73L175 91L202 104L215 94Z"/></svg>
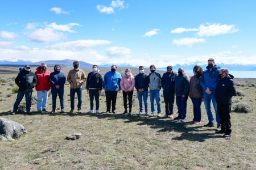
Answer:
<svg viewBox="0 0 256 170"><path fill-rule="evenodd" d="M162 76L162 87L164 94L174 94L175 93L175 77L177 73L164 73Z"/></svg>

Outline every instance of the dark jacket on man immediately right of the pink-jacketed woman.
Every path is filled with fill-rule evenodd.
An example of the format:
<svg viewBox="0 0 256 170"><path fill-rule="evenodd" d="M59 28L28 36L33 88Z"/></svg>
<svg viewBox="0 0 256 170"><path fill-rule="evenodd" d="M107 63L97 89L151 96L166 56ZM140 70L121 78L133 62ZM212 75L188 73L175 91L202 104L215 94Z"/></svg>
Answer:
<svg viewBox="0 0 256 170"><path fill-rule="evenodd" d="M143 88L144 91L148 91L150 79L146 73L139 73L135 76L135 88L139 91L139 88Z"/></svg>

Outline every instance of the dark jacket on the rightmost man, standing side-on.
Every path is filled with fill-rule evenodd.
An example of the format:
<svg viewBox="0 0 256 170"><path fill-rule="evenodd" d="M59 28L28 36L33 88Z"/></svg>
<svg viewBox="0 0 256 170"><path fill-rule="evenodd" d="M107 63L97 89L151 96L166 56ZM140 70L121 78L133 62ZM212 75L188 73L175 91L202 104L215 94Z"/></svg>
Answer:
<svg viewBox="0 0 256 170"><path fill-rule="evenodd" d="M236 96L236 87L233 81L234 76L228 75L224 79L219 79L216 84L215 99L217 104L231 104L232 96Z"/></svg>

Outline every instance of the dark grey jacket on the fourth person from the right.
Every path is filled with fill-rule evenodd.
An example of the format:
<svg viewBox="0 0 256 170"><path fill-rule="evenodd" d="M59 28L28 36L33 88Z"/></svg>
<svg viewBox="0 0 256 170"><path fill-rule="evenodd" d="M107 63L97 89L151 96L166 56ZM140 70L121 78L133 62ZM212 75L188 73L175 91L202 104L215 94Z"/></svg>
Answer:
<svg viewBox="0 0 256 170"><path fill-rule="evenodd" d="M175 92L176 96L188 96L189 93L189 78L185 73L175 77Z"/></svg>

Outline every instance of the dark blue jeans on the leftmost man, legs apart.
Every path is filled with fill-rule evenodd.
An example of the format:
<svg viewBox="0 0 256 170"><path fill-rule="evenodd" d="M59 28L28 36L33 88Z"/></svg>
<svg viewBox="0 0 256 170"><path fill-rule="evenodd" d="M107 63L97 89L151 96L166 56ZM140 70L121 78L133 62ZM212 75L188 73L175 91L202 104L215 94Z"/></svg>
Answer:
<svg viewBox="0 0 256 170"><path fill-rule="evenodd" d="M15 101L14 106L13 106L13 112L18 111L19 103L20 103L20 101L22 101L24 95L26 97L26 111L30 112L31 97L32 97L32 92L31 91L30 92L18 91L17 98L16 98L16 101Z"/></svg>

